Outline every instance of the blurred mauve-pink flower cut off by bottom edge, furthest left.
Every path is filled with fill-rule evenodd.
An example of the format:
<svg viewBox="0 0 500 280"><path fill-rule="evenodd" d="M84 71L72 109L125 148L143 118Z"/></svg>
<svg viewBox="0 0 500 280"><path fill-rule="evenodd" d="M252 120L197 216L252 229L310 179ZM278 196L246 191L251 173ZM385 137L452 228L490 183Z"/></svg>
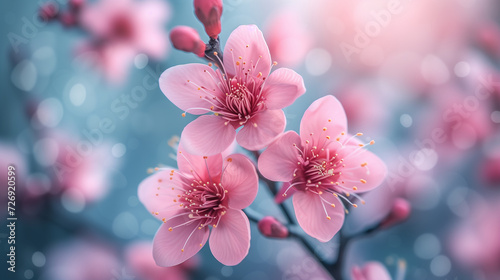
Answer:
<svg viewBox="0 0 500 280"><path fill-rule="evenodd" d="M73 240L58 244L47 255L44 280L110 280L122 276L116 252L108 245Z"/></svg>

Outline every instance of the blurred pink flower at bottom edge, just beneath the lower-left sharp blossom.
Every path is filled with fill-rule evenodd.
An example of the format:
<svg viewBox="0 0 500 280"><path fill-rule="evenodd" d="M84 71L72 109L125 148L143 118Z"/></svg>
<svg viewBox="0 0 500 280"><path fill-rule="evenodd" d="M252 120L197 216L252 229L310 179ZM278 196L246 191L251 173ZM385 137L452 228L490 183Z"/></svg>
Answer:
<svg viewBox="0 0 500 280"><path fill-rule="evenodd" d="M173 267L161 267L153 259L151 242L136 242L128 246L125 259L131 274L141 280L188 280L188 272L198 265L198 259L191 258Z"/></svg>

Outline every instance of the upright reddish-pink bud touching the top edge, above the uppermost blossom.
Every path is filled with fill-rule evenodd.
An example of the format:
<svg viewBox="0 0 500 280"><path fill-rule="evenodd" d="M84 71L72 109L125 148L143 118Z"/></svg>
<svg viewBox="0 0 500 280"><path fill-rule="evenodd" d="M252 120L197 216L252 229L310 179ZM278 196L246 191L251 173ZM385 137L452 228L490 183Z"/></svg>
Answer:
<svg viewBox="0 0 500 280"><path fill-rule="evenodd" d="M194 13L208 36L217 39L221 31L222 0L194 0Z"/></svg>

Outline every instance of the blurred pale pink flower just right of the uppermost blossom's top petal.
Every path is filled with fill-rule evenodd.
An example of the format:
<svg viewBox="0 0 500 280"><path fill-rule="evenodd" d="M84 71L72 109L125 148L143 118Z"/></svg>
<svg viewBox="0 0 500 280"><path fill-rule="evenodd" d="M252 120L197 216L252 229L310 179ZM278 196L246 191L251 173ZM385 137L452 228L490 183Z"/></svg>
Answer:
<svg viewBox="0 0 500 280"><path fill-rule="evenodd" d="M302 63L312 45L312 35L294 10L272 14L267 24L266 39L271 56L280 64L294 67Z"/></svg>

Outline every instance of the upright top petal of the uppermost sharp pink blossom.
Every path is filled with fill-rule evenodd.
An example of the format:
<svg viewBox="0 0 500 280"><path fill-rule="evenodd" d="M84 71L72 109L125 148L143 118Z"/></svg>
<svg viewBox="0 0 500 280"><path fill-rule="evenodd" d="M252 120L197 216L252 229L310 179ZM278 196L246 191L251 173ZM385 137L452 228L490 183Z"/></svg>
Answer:
<svg viewBox="0 0 500 280"><path fill-rule="evenodd" d="M255 25L241 25L236 28L224 48L224 67L230 76L243 76L243 62L251 69L250 75L257 76L260 72L267 77L271 71L269 48L264 35ZM240 65L236 65L237 63Z"/></svg>

